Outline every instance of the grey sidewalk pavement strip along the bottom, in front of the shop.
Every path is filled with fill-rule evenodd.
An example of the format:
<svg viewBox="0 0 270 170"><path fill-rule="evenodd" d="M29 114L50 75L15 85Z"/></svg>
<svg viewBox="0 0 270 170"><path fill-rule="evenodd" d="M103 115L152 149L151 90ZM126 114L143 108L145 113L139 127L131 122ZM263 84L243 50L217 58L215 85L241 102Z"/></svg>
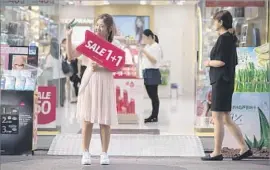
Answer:
<svg viewBox="0 0 270 170"><path fill-rule="evenodd" d="M269 170L269 160L202 162L199 158L111 157L111 165L81 166L78 156L1 156L1 170Z"/></svg>

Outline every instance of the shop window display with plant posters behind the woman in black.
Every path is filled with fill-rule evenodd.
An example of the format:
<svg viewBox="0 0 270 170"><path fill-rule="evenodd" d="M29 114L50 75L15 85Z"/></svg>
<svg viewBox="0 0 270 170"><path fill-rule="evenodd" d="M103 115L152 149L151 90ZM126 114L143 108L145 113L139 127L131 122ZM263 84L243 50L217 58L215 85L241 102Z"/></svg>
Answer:
<svg viewBox="0 0 270 170"><path fill-rule="evenodd" d="M229 10L239 40L238 66L231 116L240 126L251 148L269 147L269 1L215 1L199 3L199 56L196 79L196 131L213 136L210 123L208 71L202 65L207 60L217 34L211 17L221 9ZM258 141L258 143L257 143ZM237 148L233 137L226 133L224 146ZM234 154L234 151L229 151Z"/></svg>

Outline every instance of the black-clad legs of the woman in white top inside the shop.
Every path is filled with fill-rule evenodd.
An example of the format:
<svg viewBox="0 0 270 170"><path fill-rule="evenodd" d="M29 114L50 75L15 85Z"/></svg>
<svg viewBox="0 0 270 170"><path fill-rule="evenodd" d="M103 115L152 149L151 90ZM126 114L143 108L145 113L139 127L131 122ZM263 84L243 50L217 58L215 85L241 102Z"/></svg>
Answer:
<svg viewBox="0 0 270 170"><path fill-rule="evenodd" d="M145 85L145 88L152 102L151 117L157 118L159 113L158 85Z"/></svg>

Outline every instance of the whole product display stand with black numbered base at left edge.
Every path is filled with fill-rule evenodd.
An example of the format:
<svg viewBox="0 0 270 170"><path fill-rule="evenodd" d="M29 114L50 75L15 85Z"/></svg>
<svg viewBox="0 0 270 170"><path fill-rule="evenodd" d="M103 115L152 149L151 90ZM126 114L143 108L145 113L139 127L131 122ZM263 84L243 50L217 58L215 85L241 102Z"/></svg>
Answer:
<svg viewBox="0 0 270 170"><path fill-rule="evenodd" d="M1 70L1 154L34 154L37 146L36 47L3 47Z"/></svg>

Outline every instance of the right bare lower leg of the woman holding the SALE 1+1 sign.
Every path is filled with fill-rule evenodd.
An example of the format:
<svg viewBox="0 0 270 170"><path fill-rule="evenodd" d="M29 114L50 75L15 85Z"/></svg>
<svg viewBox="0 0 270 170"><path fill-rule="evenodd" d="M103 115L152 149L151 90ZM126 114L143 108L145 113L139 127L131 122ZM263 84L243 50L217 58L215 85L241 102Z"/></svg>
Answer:
<svg viewBox="0 0 270 170"><path fill-rule="evenodd" d="M100 125L100 139L102 152L107 153L111 138L111 128L108 125Z"/></svg>

